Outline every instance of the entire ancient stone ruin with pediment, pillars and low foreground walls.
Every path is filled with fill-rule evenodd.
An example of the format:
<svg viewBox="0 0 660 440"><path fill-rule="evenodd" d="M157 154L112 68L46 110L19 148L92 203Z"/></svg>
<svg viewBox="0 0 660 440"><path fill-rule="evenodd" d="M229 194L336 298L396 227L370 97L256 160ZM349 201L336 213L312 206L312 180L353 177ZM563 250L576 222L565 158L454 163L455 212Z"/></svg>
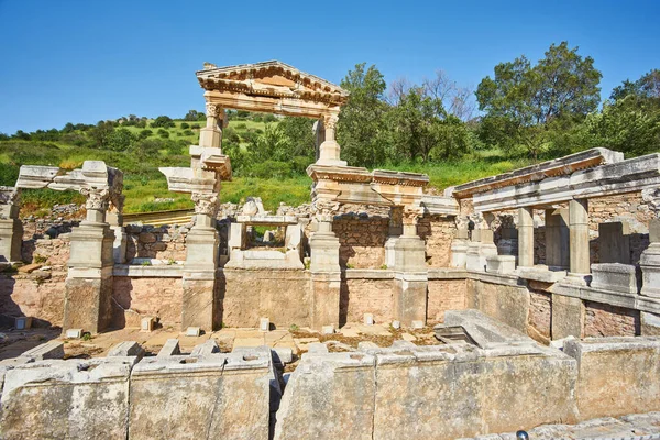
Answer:
<svg viewBox="0 0 660 440"><path fill-rule="evenodd" d="M199 145L189 167L161 168L193 223L124 226L123 175L103 162L23 165L0 188L0 315L63 336L211 337L67 360L56 339L0 360L1 438L464 438L660 411L659 153L593 148L430 195L426 175L341 160L340 87L279 62L197 78ZM309 207L220 212L226 109L318 121ZM23 188L77 190L87 217L24 237ZM15 264L37 253L48 271ZM212 337L360 322L436 326L435 343L312 342L296 360Z"/></svg>

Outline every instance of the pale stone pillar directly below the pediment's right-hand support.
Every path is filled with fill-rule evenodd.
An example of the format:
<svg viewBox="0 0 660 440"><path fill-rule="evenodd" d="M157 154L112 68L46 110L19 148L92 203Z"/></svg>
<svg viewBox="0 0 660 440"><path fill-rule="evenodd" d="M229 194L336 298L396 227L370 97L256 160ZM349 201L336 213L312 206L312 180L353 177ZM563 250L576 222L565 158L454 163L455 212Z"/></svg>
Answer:
<svg viewBox="0 0 660 440"><path fill-rule="evenodd" d="M341 268L339 266L339 239L332 231L332 215L317 216L318 228L309 239L311 262L311 327L339 327L339 299Z"/></svg>

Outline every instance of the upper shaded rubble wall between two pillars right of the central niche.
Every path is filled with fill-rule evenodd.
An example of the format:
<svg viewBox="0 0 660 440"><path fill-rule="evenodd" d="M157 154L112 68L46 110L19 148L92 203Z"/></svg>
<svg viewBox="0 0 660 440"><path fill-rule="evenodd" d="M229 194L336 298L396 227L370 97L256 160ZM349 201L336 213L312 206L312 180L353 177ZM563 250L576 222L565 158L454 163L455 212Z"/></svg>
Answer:
<svg viewBox="0 0 660 440"><path fill-rule="evenodd" d="M348 213L336 217L332 231L339 238L339 264L350 268L381 268L385 264L387 217Z"/></svg>

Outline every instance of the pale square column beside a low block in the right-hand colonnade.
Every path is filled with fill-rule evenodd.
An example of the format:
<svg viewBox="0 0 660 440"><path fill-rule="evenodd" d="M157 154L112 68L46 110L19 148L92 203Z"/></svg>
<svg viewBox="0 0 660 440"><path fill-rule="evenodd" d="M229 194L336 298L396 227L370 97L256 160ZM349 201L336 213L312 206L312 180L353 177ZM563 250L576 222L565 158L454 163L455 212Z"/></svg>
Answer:
<svg viewBox="0 0 660 440"><path fill-rule="evenodd" d="M587 200L569 202L570 271L566 280L585 284L590 274L588 261L588 209Z"/></svg>

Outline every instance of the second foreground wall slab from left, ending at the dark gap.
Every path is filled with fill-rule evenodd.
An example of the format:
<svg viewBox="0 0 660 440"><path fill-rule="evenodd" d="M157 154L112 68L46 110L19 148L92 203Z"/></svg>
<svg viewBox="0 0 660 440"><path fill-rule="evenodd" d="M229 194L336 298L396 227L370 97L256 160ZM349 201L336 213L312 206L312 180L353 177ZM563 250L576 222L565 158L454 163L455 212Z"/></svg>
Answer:
<svg viewBox="0 0 660 440"><path fill-rule="evenodd" d="M268 439L271 351L144 358L131 374L131 439Z"/></svg>

